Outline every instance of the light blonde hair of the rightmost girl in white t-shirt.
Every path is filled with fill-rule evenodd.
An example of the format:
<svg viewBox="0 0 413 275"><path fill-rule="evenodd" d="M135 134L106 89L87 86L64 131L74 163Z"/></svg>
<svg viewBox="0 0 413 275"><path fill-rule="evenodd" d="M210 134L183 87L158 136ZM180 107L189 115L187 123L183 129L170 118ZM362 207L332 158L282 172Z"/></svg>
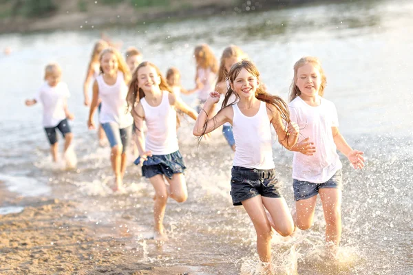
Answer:
<svg viewBox="0 0 413 275"><path fill-rule="evenodd" d="M301 95L301 91L298 89L297 85L295 82L297 81L297 72L300 67L303 67L306 64L311 64L314 67L316 67L319 70L320 76L321 76L321 85L319 87L319 96L324 96L324 89L326 88L327 85L327 78L326 75L324 74L324 70L321 67L321 62L317 57L314 56L304 56L299 58L299 61L297 61L294 64L294 78L293 82L290 85L290 94L288 96L290 102L294 100L294 98L297 98L297 96Z"/></svg>

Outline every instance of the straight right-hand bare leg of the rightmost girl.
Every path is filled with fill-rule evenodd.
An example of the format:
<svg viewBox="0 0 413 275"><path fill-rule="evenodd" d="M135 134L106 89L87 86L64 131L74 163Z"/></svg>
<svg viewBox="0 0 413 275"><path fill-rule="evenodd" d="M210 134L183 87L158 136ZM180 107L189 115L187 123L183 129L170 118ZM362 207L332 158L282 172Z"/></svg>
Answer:
<svg viewBox="0 0 413 275"><path fill-rule="evenodd" d="M320 188L319 194L326 219L326 242L337 250L341 239L341 189Z"/></svg>

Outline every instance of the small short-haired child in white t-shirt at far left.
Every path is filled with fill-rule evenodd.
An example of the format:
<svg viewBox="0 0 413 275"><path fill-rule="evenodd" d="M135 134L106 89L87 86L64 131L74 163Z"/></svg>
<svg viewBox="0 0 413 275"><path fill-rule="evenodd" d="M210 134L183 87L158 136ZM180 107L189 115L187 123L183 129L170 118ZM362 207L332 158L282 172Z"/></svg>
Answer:
<svg viewBox="0 0 413 275"><path fill-rule="evenodd" d="M43 104L43 127L50 142L50 153L53 162L58 161L58 143L56 129L65 137L65 148L72 144L73 134L67 119L73 120L74 115L67 110L67 98L70 96L66 83L61 82L61 67L56 63L50 63L45 67L45 83L40 87L39 93L32 100L26 100L27 106L37 102Z"/></svg>

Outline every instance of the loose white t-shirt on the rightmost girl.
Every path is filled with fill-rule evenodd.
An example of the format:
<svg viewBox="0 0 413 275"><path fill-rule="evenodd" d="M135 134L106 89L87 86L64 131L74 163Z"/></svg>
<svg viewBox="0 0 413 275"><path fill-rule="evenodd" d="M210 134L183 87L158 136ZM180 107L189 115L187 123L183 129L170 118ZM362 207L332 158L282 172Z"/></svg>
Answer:
<svg viewBox="0 0 413 275"><path fill-rule="evenodd" d="M321 184L330 179L342 164L332 137L333 126L339 126L335 104L319 97L317 107L308 105L299 96L288 104L290 119L299 126L299 140L310 137L316 153L304 155L294 152L293 179Z"/></svg>

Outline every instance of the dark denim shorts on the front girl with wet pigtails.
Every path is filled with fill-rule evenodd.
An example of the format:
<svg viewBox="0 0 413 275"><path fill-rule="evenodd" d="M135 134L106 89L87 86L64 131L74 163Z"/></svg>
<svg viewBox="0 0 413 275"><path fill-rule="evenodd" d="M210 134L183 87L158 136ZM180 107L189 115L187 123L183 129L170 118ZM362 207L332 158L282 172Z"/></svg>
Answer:
<svg viewBox="0 0 413 275"><path fill-rule="evenodd" d="M258 170L233 166L231 170L231 197L234 206L241 206L242 201L257 195L282 197L279 187L275 169Z"/></svg>

